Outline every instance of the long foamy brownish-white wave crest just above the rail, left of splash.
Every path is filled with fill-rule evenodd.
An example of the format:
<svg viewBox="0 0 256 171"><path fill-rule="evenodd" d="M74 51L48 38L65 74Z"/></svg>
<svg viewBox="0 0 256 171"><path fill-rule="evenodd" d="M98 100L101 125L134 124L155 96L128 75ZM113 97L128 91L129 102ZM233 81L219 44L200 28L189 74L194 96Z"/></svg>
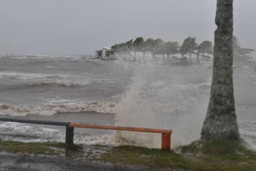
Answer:
<svg viewBox="0 0 256 171"><path fill-rule="evenodd" d="M56 113L114 113L114 102L62 103L62 104L0 104L0 115L54 115Z"/></svg>

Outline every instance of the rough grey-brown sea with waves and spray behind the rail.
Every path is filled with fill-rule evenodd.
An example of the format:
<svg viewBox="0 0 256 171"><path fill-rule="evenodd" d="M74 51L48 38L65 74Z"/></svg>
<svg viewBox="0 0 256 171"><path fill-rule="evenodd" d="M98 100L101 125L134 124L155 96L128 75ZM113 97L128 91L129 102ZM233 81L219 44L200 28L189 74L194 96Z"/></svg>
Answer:
<svg viewBox="0 0 256 171"><path fill-rule="evenodd" d="M151 59L151 58L149 58ZM0 116L172 129L172 145L200 137L211 88L211 61L175 66L168 61L102 61L79 56L2 54ZM256 75L234 68L241 137L256 149ZM0 138L64 142L65 128L0 122ZM75 129L79 145L160 147L160 135Z"/></svg>

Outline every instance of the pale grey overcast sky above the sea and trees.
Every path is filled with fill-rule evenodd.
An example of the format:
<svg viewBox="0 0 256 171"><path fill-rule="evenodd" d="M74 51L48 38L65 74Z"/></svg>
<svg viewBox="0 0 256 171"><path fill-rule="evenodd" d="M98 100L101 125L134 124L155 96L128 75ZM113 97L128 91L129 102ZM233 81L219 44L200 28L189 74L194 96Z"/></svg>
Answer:
<svg viewBox="0 0 256 171"><path fill-rule="evenodd" d="M136 37L214 40L216 0L0 0L0 53L94 54ZM256 48L256 1L234 0L234 34Z"/></svg>

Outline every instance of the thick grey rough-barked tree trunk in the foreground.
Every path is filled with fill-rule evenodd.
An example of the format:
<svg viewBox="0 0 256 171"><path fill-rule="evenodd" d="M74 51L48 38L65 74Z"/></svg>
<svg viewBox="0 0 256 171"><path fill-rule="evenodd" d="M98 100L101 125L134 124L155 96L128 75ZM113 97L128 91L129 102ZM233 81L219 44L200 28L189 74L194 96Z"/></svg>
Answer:
<svg viewBox="0 0 256 171"><path fill-rule="evenodd" d="M217 0L211 96L201 140L240 140L233 91L233 0Z"/></svg>

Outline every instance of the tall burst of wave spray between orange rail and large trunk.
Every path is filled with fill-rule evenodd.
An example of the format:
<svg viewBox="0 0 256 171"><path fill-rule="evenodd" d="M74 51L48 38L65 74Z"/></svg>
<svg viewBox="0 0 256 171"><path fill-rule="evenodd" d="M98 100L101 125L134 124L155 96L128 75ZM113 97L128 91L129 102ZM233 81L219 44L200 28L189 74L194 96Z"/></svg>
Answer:
<svg viewBox="0 0 256 171"><path fill-rule="evenodd" d="M172 147L200 137L211 86L206 69L141 64L129 90L116 105L116 126L172 129ZM207 94L207 95L206 95ZM161 147L160 134L116 132L124 140L150 148Z"/></svg>

